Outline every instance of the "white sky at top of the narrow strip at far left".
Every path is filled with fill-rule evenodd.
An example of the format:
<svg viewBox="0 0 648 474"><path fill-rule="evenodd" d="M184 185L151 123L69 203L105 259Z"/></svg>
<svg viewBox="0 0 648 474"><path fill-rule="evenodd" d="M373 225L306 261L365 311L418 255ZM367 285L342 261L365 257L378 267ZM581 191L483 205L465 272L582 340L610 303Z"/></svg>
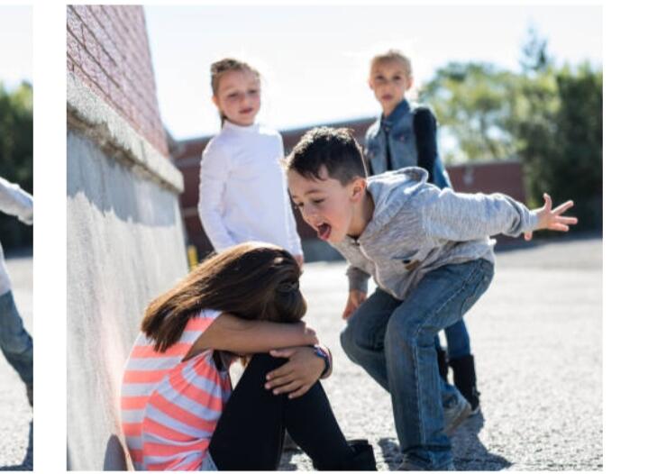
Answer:
<svg viewBox="0 0 648 474"><path fill-rule="evenodd" d="M32 7L0 5L0 82L32 82Z"/></svg>

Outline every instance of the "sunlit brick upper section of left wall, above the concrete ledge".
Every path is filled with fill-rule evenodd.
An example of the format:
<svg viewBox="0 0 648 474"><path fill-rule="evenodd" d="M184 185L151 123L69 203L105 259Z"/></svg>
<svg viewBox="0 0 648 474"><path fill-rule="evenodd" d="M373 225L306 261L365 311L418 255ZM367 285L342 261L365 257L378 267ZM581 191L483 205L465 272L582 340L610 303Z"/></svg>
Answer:
<svg viewBox="0 0 648 474"><path fill-rule="evenodd" d="M169 156L141 6L68 5L68 72Z"/></svg>

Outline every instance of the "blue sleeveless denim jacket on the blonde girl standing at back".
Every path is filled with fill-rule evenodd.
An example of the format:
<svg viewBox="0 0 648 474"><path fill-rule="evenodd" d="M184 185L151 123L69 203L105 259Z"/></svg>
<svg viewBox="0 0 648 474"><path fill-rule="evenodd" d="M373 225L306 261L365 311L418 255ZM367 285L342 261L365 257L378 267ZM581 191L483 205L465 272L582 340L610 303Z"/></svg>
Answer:
<svg viewBox="0 0 648 474"><path fill-rule="evenodd" d="M389 171L387 164L387 142L389 141L389 155L392 169L401 169L411 166L419 166L416 151L416 137L414 132L415 111L425 105L410 104L403 99L388 115L380 116L372 123L365 135L365 157L370 168L370 174L378 175ZM433 120L434 124L436 119ZM432 178L431 183L443 189L452 187L448 173L443 167L443 161L439 157L436 144L436 127L429 131L430 140L434 141L434 170L428 169Z"/></svg>

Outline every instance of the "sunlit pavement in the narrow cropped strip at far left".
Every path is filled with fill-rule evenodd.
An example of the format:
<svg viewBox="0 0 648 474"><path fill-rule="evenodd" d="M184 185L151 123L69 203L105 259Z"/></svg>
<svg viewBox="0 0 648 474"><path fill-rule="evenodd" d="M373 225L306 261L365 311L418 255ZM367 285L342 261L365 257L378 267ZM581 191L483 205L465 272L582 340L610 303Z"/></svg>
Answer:
<svg viewBox="0 0 648 474"><path fill-rule="evenodd" d="M32 257L8 256L14 300L32 334ZM0 354L0 470L32 470L32 407L23 381Z"/></svg>

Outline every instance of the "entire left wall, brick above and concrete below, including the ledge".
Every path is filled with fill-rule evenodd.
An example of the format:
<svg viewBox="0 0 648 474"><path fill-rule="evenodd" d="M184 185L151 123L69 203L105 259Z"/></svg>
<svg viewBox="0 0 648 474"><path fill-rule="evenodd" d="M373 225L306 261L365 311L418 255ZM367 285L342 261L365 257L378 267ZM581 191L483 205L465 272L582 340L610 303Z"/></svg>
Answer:
<svg viewBox="0 0 648 474"><path fill-rule="evenodd" d="M183 179L141 41L141 8L68 6L68 469L131 467L123 366L148 302L187 273Z"/></svg>

